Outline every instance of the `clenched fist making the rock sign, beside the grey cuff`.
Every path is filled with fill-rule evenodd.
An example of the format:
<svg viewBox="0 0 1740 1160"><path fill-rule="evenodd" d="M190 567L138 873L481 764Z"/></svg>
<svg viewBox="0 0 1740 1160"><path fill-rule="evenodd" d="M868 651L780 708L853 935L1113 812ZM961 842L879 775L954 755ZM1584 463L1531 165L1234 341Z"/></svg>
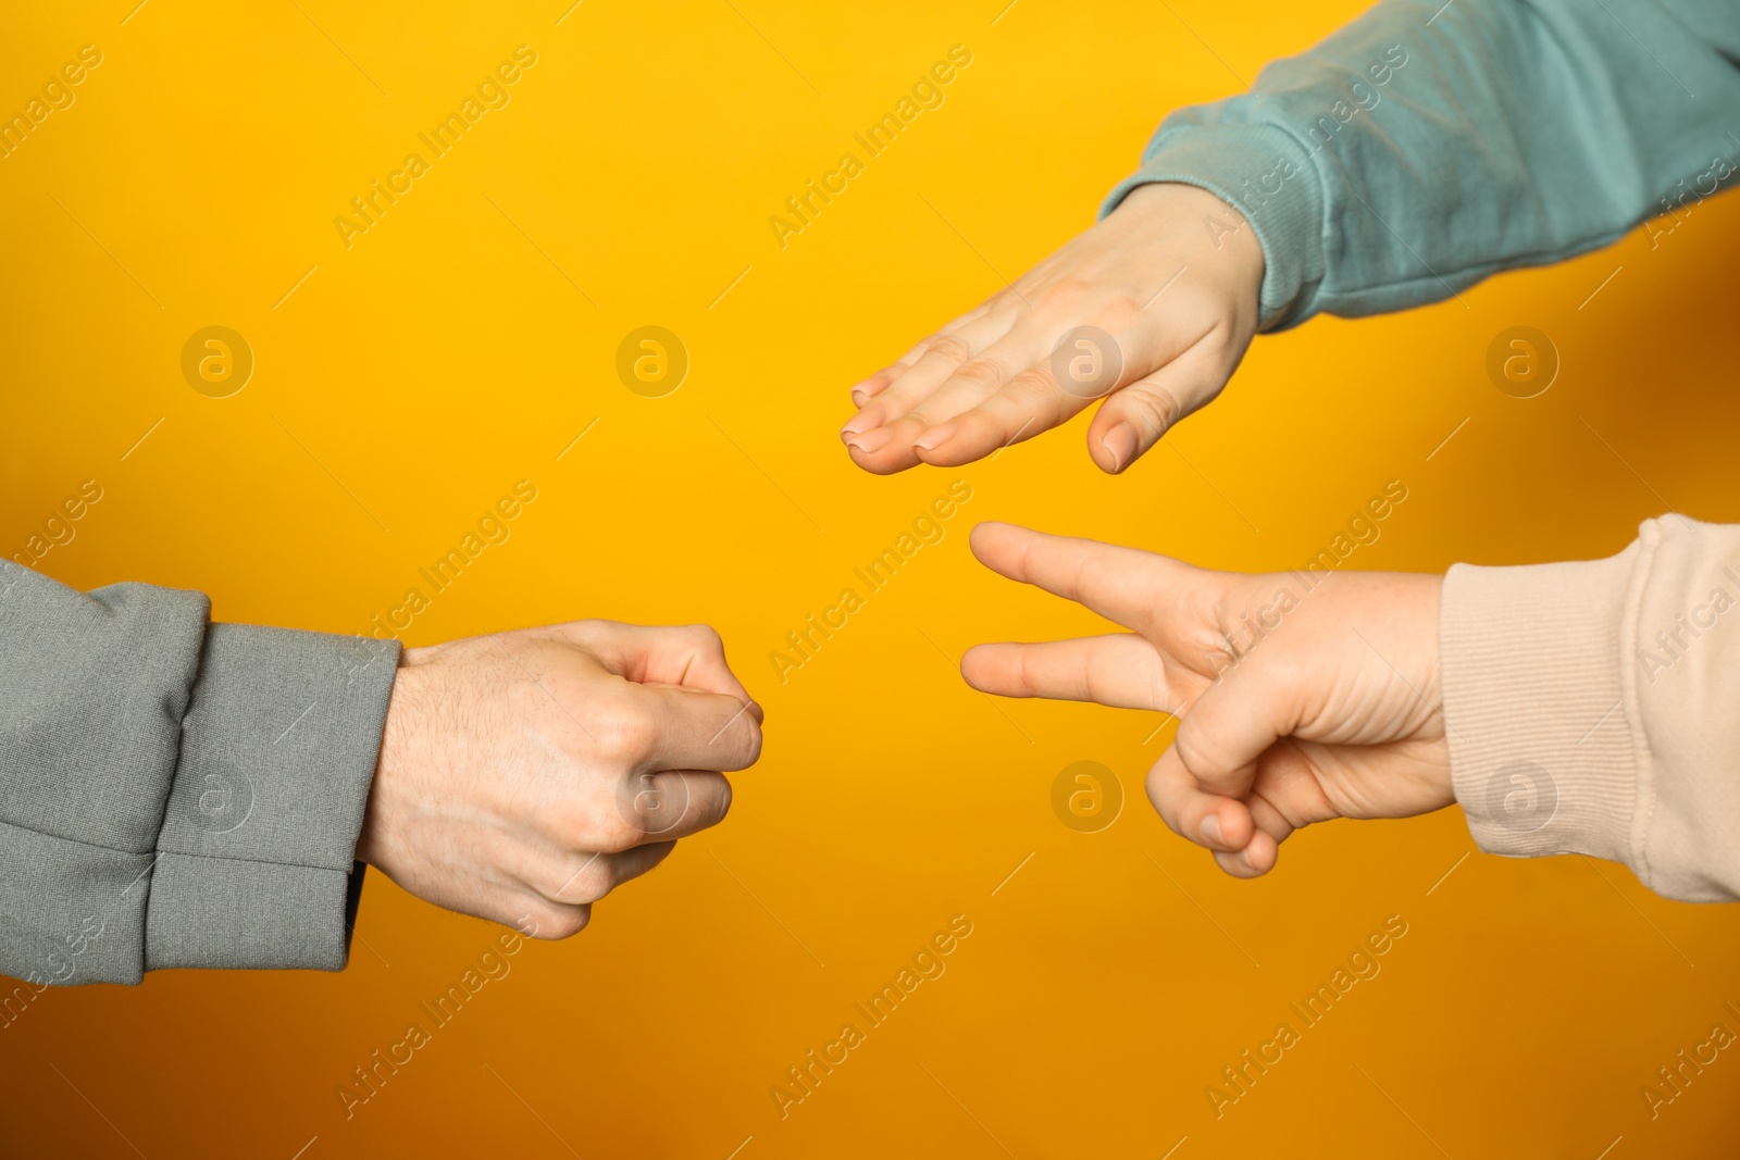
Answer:
<svg viewBox="0 0 1740 1160"><path fill-rule="evenodd" d="M762 710L706 626L574 621L404 654L357 857L539 937L731 807Z"/></svg>

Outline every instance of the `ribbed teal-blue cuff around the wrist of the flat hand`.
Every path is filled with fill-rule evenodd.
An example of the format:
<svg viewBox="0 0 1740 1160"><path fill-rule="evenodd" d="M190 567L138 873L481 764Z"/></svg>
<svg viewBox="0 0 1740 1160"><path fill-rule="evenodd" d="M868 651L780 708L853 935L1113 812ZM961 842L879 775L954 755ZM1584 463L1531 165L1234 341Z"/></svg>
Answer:
<svg viewBox="0 0 1740 1160"><path fill-rule="evenodd" d="M1310 317L1308 287L1322 282L1322 177L1310 153L1274 125L1188 125L1155 134L1141 169L1112 190L1105 217L1136 186L1155 181L1208 190L1237 209L1263 247L1260 329Z"/></svg>

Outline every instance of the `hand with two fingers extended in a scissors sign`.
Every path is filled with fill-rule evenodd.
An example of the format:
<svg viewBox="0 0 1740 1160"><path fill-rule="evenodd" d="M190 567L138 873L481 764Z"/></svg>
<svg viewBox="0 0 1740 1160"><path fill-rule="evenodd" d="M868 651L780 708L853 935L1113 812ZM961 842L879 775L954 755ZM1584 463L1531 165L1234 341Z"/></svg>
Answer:
<svg viewBox="0 0 1740 1160"><path fill-rule="evenodd" d="M1009 523L973 529L1009 579L1131 630L995 643L960 661L1006 697L1094 701L1178 717L1148 798L1221 870L1274 868L1295 830L1411 817L1455 800L1439 692L1441 576L1209 572Z"/></svg>

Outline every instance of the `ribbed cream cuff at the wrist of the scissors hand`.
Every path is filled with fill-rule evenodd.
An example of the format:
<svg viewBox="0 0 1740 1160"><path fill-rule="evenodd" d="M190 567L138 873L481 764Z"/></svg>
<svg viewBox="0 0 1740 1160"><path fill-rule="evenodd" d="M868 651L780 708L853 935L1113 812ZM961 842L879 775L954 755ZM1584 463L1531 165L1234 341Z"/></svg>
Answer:
<svg viewBox="0 0 1740 1160"><path fill-rule="evenodd" d="M1608 560L1455 565L1439 624L1456 802L1488 854L1634 870L1637 736L1625 668L1639 546Z"/></svg>

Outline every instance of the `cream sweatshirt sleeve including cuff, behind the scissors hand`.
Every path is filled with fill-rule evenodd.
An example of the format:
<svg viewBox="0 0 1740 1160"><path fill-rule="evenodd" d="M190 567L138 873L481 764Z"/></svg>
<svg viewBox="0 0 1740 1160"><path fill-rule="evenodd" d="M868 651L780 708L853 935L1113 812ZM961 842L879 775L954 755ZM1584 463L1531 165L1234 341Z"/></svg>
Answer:
<svg viewBox="0 0 1740 1160"><path fill-rule="evenodd" d="M1740 899L1740 525L1650 520L1606 560L1458 563L1441 619L1456 800L1479 847L1592 854Z"/></svg>

